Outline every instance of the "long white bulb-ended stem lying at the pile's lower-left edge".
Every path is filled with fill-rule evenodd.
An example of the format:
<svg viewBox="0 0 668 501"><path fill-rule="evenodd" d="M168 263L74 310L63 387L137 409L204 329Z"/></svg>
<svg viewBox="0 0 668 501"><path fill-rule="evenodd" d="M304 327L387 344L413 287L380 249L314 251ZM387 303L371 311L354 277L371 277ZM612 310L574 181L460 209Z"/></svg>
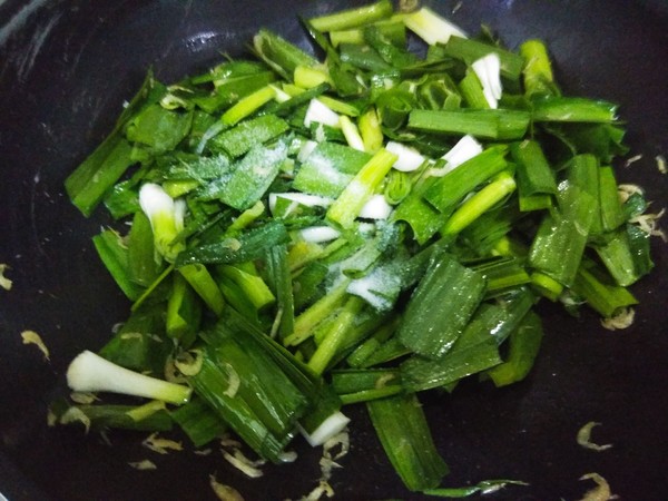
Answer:
<svg viewBox="0 0 668 501"><path fill-rule="evenodd" d="M188 386L169 383L116 365L88 350L81 352L67 370L67 384L76 392L110 392L144 396L174 404L190 397Z"/></svg>

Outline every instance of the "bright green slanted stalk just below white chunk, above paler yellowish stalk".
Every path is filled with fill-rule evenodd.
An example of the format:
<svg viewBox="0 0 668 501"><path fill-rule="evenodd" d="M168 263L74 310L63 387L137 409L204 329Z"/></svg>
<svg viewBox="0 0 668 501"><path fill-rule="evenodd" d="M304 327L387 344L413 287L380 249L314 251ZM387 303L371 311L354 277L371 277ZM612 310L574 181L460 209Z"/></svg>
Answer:
<svg viewBox="0 0 668 501"><path fill-rule="evenodd" d="M424 198L442 213L455 205L477 186L508 168L505 147L494 146L464 161L438 178L424 193Z"/></svg>

